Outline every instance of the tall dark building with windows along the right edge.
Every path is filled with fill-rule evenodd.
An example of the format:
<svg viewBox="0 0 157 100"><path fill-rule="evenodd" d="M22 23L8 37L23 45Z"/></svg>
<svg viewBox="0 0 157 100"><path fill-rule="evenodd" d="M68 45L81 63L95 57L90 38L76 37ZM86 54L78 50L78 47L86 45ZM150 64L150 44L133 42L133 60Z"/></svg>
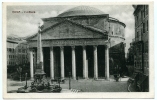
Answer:
<svg viewBox="0 0 157 100"><path fill-rule="evenodd" d="M135 5L134 69L140 91L149 91L149 6Z"/></svg>

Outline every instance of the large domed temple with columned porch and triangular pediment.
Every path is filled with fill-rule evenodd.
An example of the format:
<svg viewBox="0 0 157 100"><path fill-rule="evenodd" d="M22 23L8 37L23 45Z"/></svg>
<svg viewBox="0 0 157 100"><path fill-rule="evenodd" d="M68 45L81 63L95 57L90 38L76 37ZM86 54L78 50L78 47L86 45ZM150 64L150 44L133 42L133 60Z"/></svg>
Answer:
<svg viewBox="0 0 157 100"><path fill-rule="evenodd" d="M69 76L109 79L114 66L125 67L125 24L88 6L43 18L43 70L52 79ZM37 66L38 34L27 38L31 77ZM121 58L122 57L122 58ZM121 58L121 59L119 59Z"/></svg>

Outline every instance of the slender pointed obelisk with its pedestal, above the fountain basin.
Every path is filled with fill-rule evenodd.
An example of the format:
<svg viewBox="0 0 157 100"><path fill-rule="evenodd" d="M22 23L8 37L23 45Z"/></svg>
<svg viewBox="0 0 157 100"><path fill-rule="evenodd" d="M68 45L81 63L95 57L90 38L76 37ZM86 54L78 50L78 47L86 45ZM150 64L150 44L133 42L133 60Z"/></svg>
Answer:
<svg viewBox="0 0 157 100"><path fill-rule="evenodd" d="M42 26L38 26L38 38L37 38L37 67L35 70L35 75L44 75L44 67L43 67L43 54L42 54L42 41L41 41L41 30Z"/></svg>

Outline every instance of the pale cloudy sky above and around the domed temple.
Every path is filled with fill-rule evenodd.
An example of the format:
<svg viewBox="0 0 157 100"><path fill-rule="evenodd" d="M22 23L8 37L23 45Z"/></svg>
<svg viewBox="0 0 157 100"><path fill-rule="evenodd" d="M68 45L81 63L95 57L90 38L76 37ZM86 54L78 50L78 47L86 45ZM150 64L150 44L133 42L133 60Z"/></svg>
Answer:
<svg viewBox="0 0 157 100"><path fill-rule="evenodd" d="M7 35L19 37L30 36L38 31L38 23L43 23L41 18L56 17L58 14L80 5L23 5L7 6ZM134 8L132 5L90 5L109 14L126 24L125 28L125 52L130 42L135 37ZM35 13L12 13L12 11L35 11Z"/></svg>

